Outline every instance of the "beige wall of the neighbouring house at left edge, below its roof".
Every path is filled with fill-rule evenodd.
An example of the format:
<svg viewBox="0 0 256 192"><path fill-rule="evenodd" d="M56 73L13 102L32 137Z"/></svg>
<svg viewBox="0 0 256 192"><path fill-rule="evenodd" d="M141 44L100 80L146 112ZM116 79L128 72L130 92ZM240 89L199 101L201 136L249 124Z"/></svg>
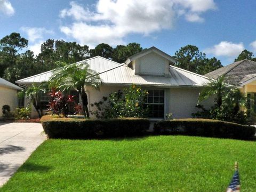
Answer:
<svg viewBox="0 0 256 192"><path fill-rule="evenodd" d="M9 87L0 86L0 117L2 117L2 107L3 105L9 105L11 111L18 107L18 91L11 89Z"/></svg>

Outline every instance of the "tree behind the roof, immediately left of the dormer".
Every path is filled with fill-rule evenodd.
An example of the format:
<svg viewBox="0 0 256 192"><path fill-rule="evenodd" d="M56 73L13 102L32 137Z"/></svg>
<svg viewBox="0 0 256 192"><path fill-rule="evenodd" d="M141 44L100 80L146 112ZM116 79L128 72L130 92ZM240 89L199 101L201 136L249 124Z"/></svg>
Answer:
<svg viewBox="0 0 256 192"><path fill-rule="evenodd" d="M113 52L113 61L123 63L130 56L141 52L143 49L138 43L128 45L117 45Z"/></svg>

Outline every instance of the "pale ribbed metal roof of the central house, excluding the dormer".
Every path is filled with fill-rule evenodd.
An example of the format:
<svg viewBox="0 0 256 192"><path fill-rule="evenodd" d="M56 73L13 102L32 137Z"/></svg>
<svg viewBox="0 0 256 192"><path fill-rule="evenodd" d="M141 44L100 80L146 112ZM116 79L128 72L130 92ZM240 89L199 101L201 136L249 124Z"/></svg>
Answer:
<svg viewBox="0 0 256 192"><path fill-rule="evenodd" d="M170 66L170 77L164 76L139 76L134 75L134 70L127 67L124 63L116 63L114 61L94 57L85 60L90 68L97 71L100 75L102 83L106 84L138 84L153 86L202 86L209 83L209 78L202 75L192 73L190 71ZM84 62L84 61L81 61ZM78 62L78 63L81 63ZM34 75L17 81L20 84L40 83L48 81L52 71Z"/></svg>

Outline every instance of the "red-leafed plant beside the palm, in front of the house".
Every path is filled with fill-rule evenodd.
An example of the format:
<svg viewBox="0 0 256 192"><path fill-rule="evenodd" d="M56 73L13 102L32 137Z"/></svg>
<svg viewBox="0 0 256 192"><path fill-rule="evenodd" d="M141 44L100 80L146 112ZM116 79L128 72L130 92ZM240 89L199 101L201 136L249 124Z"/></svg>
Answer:
<svg viewBox="0 0 256 192"><path fill-rule="evenodd" d="M49 95L50 102L47 111L51 111L52 114L57 114L59 116L63 115L65 117L73 114L70 110L70 104L75 102L74 95L65 95L61 91L56 91L55 89L52 89Z"/></svg>

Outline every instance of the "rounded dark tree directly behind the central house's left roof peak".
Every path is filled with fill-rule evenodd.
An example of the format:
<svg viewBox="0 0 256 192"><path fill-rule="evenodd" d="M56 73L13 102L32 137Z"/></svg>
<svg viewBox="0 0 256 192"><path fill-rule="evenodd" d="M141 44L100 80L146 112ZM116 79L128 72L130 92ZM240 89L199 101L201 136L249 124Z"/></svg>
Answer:
<svg viewBox="0 0 256 192"><path fill-rule="evenodd" d="M90 50L91 57L101 56L103 58L111 59L113 55L113 47L106 43L101 43Z"/></svg>

